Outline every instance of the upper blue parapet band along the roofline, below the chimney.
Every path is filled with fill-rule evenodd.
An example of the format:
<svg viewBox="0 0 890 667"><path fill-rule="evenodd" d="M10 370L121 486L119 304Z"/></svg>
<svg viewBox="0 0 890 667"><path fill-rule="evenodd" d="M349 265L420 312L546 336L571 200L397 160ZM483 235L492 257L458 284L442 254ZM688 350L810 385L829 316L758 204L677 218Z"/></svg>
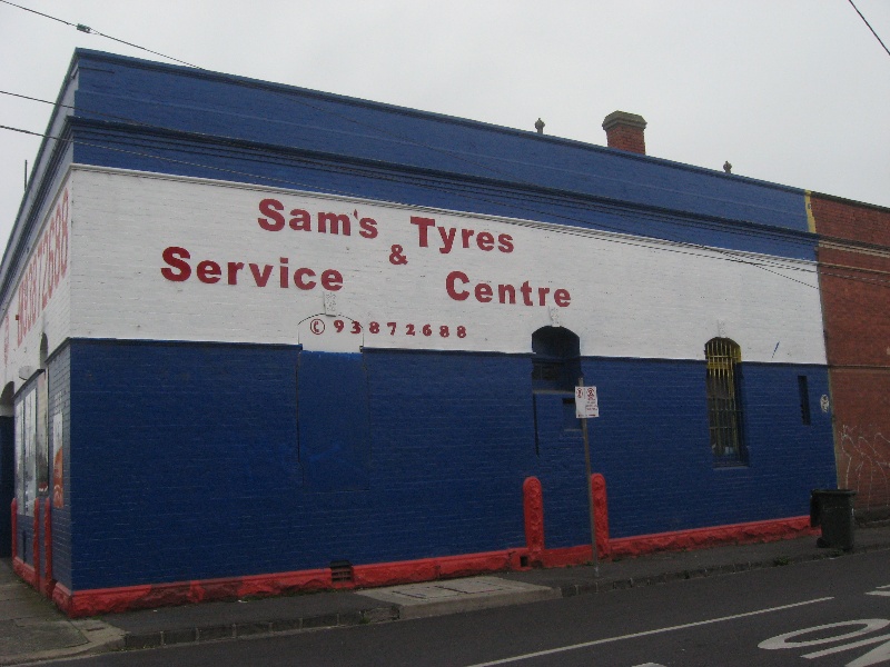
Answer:
<svg viewBox="0 0 890 667"><path fill-rule="evenodd" d="M244 77L87 50L77 57L78 113L87 117L115 115L229 139L808 229L804 191L797 188Z"/></svg>

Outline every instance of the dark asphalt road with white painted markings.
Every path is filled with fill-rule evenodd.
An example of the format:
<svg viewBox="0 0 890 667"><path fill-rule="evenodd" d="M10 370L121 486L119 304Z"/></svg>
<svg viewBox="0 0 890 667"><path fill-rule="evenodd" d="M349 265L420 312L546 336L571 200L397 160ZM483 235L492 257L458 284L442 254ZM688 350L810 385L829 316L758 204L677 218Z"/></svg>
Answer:
<svg viewBox="0 0 890 667"><path fill-rule="evenodd" d="M890 665L890 552L438 618L55 664L72 667Z"/></svg>

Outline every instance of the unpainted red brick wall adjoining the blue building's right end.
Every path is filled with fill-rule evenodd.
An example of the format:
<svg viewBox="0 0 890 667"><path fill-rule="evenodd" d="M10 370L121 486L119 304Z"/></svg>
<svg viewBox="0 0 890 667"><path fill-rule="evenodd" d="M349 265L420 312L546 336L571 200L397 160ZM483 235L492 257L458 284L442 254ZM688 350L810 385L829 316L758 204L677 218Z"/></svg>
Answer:
<svg viewBox="0 0 890 667"><path fill-rule="evenodd" d="M890 210L817 196L811 203L838 484L859 491L860 514L890 516Z"/></svg>

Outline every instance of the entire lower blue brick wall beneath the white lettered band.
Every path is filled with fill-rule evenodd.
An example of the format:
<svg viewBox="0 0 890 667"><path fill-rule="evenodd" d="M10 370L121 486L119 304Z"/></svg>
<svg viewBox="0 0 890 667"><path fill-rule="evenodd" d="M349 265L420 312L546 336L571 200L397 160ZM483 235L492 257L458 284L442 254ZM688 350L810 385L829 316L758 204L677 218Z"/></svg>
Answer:
<svg viewBox="0 0 890 667"><path fill-rule="evenodd" d="M547 547L589 540L581 432L563 395L533 400L528 357L315 355L317 377L343 382L314 396L303 380L298 392L305 354L71 344L75 589L522 547L530 475L544 487ZM600 389L593 467L614 537L800 516L833 476L817 407L824 369L744 367L750 465L731 470L711 459L702 362L585 359L583 370ZM364 415L349 397L367 401ZM365 466L357 486L317 484L332 468L309 456L326 444L308 434L324 438L338 418L368 434L347 448Z"/></svg>

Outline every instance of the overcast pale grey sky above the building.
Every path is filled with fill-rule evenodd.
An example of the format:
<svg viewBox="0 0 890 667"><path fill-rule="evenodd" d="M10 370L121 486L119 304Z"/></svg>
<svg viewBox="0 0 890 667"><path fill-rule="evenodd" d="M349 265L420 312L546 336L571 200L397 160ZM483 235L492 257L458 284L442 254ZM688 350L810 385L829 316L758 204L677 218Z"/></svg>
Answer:
<svg viewBox="0 0 890 667"><path fill-rule="evenodd" d="M12 0L205 69L605 145L890 207L890 54L848 0ZM890 1L854 0L890 46ZM55 100L75 48L169 62L0 3L0 90ZM51 107L0 94L0 125ZM40 140L0 130L0 243Z"/></svg>

